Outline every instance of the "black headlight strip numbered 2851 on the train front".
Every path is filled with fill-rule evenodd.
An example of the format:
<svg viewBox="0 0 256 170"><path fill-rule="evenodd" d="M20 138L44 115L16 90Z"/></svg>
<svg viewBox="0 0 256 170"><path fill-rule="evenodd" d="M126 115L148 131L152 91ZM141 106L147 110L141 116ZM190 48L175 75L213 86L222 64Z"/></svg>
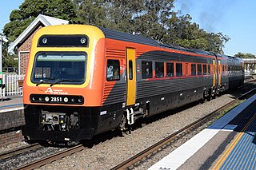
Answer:
<svg viewBox="0 0 256 170"><path fill-rule="evenodd" d="M68 105L82 105L84 103L84 97L82 96L61 96L61 95L42 95L31 94L31 103L48 103L48 104L68 104Z"/></svg>

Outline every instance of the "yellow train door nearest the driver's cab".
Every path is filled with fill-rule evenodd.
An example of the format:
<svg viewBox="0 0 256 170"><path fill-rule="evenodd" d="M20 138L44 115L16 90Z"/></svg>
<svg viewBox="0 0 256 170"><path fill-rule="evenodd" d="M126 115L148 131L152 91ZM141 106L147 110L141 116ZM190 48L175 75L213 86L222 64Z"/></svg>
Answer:
<svg viewBox="0 0 256 170"><path fill-rule="evenodd" d="M136 100L136 69L135 49L126 48L126 77L127 95L126 105L134 105Z"/></svg>

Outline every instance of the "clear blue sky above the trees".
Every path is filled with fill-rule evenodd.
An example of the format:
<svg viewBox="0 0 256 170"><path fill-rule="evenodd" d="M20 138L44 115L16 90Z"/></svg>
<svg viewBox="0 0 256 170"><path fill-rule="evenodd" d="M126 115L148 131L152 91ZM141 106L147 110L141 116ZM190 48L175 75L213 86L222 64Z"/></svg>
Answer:
<svg viewBox="0 0 256 170"><path fill-rule="evenodd" d="M24 0L0 0L0 33L10 22L12 10L18 10ZM192 22L207 32L230 37L224 53L238 52L256 55L256 1L255 0L176 0L175 10L190 14Z"/></svg>

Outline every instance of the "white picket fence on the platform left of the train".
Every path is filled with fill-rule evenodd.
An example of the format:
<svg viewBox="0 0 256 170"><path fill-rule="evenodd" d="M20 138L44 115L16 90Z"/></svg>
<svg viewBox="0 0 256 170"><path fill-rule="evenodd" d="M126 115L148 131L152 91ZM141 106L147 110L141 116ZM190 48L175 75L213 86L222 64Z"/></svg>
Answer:
<svg viewBox="0 0 256 170"><path fill-rule="evenodd" d="M18 74L3 74L2 84L6 85L5 88L0 88L0 96L17 96L22 95L22 81L24 80L25 75Z"/></svg>

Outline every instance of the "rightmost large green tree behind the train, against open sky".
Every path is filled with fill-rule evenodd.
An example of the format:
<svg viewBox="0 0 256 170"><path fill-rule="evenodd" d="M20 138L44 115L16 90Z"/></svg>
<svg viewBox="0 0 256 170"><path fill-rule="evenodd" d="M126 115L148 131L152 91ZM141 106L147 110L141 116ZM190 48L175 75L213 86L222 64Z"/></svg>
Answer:
<svg viewBox="0 0 256 170"><path fill-rule="evenodd" d="M200 29L199 25L191 22L192 18L189 14L179 16L178 13L173 14L169 18L168 31L169 37L166 37L165 42L183 47L196 49L204 49L216 53L223 53L223 48L230 38L222 33L214 34L207 33Z"/></svg>

